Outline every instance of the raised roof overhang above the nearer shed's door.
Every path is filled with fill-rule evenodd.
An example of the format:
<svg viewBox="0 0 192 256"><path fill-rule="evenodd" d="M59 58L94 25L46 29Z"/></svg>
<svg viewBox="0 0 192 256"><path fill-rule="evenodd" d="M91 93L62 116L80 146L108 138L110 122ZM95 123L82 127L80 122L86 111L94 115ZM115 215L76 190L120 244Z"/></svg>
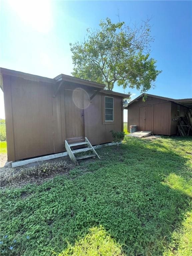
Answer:
<svg viewBox="0 0 192 256"><path fill-rule="evenodd" d="M92 82L92 81L88 81L88 80L85 80L85 79L81 79L81 78L74 77L74 76L69 76L69 75L64 75L64 74L60 74L60 75L56 76L54 79L57 82L63 80L63 81L66 81L66 82L87 85L87 86L96 87L96 88L100 88L100 89L105 88L104 84L99 84L99 83L96 83L96 82Z"/></svg>

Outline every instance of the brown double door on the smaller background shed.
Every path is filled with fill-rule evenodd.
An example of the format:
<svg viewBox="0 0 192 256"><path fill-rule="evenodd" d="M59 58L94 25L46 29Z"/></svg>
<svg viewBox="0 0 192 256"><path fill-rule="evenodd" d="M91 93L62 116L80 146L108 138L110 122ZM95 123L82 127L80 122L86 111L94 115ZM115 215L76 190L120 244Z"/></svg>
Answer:
<svg viewBox="0 0 192 256"><path fill-rule="evenodd" d="M153 131L153 106L140 107L139 130Z"/></svg>

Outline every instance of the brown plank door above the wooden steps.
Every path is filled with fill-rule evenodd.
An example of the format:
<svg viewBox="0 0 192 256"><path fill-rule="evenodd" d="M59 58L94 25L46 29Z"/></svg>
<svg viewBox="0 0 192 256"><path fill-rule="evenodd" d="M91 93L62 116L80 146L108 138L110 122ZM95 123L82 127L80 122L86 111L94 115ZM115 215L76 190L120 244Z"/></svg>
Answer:
<svg viewBox="0 0 192 256"><path fill-rule="evenodd" d="M78 141L84 137L83 93L81 90L64 90L66 139Z"/></svg>

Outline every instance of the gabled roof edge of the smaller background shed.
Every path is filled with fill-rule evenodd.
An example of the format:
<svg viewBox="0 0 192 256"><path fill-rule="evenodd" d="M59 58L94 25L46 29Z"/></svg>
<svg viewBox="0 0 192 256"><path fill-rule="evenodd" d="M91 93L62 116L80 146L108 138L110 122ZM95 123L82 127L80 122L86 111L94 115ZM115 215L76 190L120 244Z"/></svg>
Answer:
<svg viewBox="0 0 192 256"><path fill-rule="evenodd" d="M147 95L149 97L159 98L159 99L162 99L162 100L172 101L172 102L175 102L177 104L180 104L180 105L192 108L192 98L188 98L188 99L172 99L172 98L157 96L157 95L153 95L153 94L142 93L137 98L135 98L134 100L129 102L128 106L125 109L127 109L129 107L129 105L131 105L133 102L137 101L139 98L143 97L144 95Z"/></svg>

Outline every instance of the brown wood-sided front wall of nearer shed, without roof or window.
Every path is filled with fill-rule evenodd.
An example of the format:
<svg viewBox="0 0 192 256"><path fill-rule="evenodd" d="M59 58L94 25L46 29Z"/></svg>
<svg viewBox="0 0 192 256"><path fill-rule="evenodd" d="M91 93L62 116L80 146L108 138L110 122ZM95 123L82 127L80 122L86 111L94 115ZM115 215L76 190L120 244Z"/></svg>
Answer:
<svg viewBox="0 0 192 256"><path fill-rule="evenodd" d="M112 141L110 130L122 130L122 97L114 97L114 122L102 123L102 96L99 93L87 104L79 95L78 108L72 99L75 88L93 88L65 83L54 98L55 84L3 76L8 160L14 161L65 151L67 138L86 136L93 145ZM78 102L78 104L80 104ZM82 116L84 114L84 116ZM84 127L84 128L83 128Z"/></svg>

